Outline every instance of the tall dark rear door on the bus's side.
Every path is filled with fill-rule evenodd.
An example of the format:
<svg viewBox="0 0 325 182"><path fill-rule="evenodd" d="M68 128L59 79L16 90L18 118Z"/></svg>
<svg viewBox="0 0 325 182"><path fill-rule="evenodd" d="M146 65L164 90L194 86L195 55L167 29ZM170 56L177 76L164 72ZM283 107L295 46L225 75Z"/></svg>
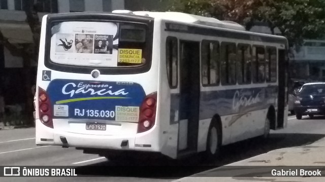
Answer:
<svg viewBox="0 0 325 182"><path fill-rule="evenodd" d="M180 41L178 155L197 152L200 100L200 43Z"/></svg>

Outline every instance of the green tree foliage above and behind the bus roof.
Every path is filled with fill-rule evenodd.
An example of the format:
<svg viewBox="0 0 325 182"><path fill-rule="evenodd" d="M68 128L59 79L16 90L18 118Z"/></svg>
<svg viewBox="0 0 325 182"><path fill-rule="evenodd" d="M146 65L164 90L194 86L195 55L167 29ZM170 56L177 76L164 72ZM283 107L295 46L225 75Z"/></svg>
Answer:
<svg viewBox="0 0 325 182"><path fill-rule="evenodd" d="M265 22L273 33L279 28L290 46L321 38L325 30L324 0L174 0L170 10L235 21L247 30Z"/></svg>

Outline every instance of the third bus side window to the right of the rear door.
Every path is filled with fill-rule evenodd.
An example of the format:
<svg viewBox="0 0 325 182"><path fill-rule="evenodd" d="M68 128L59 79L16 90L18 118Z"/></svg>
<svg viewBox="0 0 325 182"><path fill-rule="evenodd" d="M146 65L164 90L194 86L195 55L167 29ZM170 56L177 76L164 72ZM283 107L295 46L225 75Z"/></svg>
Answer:
<svg viewBox="0 0 325 182"><path fill-rule="evenodd" d="M237 47L237 81L238 84L251 83L250 45L238 44Z"/></svg>

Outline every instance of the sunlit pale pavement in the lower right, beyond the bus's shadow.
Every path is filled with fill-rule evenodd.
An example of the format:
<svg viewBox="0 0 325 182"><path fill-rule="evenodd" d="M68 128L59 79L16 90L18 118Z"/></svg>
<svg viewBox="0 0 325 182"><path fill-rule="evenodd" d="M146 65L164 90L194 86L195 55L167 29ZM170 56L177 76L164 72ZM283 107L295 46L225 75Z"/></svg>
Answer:
<svg viewBox="0 0 325 182"><path fill-rule="evenodd" d="M299 138L297 138L299 139ZM237 167L236 167L237 166ZM279 166L279 167L277 167ZM287 166L287 167L285 167ZM294 170L306 169L321 171L321 176L272 176L272 169ZM220 176L220 177L217 177ZM225 177L223 177L225 176ZM229 177L237 176L237 177ZM247 177L243 177L247 176ZM268 176L268 177L266 177ZM270 151L249 159L225 165L184 177L179 181L224 181L224 182L248 182L248 181L325 181L325 138L312 144L300 147L284 148Z"/></svg>

